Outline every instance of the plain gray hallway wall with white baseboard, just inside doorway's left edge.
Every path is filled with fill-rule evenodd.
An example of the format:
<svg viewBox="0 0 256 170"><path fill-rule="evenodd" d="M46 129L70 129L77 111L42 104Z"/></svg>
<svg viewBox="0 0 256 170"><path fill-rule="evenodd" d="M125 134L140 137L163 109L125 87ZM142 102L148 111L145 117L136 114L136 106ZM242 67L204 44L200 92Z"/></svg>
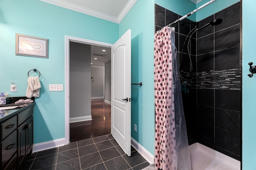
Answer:
<svg viewBox="0 0 256 170"><path fill-rule="evenodd" d="M90 45L70 42L70 122L91 119L90 53Z"/></svg>

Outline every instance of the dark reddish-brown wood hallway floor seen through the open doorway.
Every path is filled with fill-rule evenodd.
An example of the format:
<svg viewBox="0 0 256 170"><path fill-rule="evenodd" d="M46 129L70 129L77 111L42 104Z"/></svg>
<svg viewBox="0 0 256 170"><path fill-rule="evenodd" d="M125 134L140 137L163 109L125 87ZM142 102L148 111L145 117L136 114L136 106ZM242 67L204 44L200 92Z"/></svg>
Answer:
<svg viewBox="0 0 256 170"><path fill-rule="evenodd" d="M111 105L92 99L92 120L70 123L70 143L111 133Z"/></svg>

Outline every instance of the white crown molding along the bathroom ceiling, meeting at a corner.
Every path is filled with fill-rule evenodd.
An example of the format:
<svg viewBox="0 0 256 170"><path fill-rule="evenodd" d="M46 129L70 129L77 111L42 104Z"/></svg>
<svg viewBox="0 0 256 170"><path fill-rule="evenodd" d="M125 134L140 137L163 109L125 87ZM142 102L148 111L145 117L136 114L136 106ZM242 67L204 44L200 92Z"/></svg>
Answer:
<svg viewBox="0 0 256 170"><path fill-rule="evenodd" d="M83 6L79 6L70 2L66 2L65 0L40 0L42 2L46 2L49 4L53 4L56 6L60 6L63 8L67 8L76 12L81 12L83 14L87 14L90 16L94 16L97 18L101 18L103 20L107 20L107 21L111 21L114 23L120 23L122 21L122 19L124 18L124 16L126 16L126 14L129 12L129 10L132 8L132 6L136 3L137 0L129 0L129 2L126 4L126 6L124 7L124 9L122 10L122 12L120 13L120 15L118 16L118 18L114 17L114 16L110 16L108 14L104 14L102 12L98 12L95 10L91 10L89 8L83 7Z"/></svg>

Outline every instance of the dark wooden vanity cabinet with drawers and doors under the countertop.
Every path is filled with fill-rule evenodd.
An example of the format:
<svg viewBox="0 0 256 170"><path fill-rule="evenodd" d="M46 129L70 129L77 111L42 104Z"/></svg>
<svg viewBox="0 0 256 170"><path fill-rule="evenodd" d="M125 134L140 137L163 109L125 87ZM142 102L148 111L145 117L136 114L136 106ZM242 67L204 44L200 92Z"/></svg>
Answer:
<svg viewBox="0 0 256 170"><path fill-rule="evenodd" d="M12 117L1 122L1 170L20 169L26 157L32 153L33 105L17 109Z"/></svg>

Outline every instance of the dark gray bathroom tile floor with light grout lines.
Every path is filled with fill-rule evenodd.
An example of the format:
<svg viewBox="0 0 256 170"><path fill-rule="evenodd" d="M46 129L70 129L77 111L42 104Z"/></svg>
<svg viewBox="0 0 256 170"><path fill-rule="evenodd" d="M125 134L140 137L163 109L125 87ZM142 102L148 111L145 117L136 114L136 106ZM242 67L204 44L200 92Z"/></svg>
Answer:
<svg viewBox="0 0 256 170"><path fill-rule="evenodd" d="M22 170L141 170L149 163L133 148L127 156L112 135L32 153Z"/></svg>

